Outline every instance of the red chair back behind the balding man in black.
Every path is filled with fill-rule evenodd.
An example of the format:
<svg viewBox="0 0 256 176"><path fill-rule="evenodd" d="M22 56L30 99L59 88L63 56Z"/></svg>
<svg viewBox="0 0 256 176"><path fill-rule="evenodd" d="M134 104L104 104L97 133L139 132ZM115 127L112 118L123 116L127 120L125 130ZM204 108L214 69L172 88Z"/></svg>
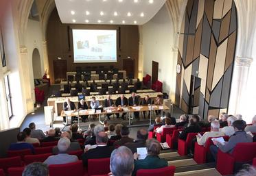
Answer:
<svg viewBox="0 0 256 176"><path fill-rule="evenodd" d="M88 175L101 175L110 172L110 158L88 160Z"/></svg>

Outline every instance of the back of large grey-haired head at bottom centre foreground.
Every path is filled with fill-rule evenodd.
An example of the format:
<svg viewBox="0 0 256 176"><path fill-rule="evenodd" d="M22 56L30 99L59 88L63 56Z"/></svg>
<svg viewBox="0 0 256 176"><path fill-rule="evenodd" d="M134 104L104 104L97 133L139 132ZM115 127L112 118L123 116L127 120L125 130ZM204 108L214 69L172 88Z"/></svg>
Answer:
<svg viewBox="0 0 256 176"><path fill-rule="evenodd" d="M134 168L132 151L121 146L115 149L110 156L110 171L113 176L129 176Z"/></svg>

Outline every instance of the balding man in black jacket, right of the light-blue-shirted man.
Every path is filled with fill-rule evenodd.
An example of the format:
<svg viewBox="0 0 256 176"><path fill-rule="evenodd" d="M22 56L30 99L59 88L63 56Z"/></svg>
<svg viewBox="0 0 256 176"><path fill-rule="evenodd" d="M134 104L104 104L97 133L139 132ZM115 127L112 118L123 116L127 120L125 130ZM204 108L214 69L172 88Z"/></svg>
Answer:
<svg viewBox="0 0 256 176"><path fill-rule="evenodd" d="M108 146L108 136L104 131L100 131L96 135L96 144L97 147L94 149L84 149L82 154L82 162L84 166L87 166L88 159L97 159L97 158L110 158L113 147Z"/></svg>

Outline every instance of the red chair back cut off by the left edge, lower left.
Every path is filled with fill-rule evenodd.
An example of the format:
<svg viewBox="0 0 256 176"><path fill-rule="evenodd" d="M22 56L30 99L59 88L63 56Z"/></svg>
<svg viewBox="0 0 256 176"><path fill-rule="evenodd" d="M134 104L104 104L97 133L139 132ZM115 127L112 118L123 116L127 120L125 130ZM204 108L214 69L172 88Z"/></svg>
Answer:
<svg viewBox="0 0 256 176"><path fill-rule="evenodd" d="M7 173L10 167L21 167L22 161L20 156L15 156L11 158L0 158L0 168Z"/></svg>

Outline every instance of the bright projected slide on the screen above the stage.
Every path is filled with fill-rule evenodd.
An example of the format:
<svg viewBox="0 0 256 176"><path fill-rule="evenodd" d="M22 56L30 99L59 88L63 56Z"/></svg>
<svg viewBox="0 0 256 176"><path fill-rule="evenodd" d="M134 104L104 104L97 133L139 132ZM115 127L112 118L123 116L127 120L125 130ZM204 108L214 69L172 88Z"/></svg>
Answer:
<svg viewBox="0 0 256 176"><path fill-rule="evenodd" d="M116 30L73 29L74 62L117 62Z"/></svg>

